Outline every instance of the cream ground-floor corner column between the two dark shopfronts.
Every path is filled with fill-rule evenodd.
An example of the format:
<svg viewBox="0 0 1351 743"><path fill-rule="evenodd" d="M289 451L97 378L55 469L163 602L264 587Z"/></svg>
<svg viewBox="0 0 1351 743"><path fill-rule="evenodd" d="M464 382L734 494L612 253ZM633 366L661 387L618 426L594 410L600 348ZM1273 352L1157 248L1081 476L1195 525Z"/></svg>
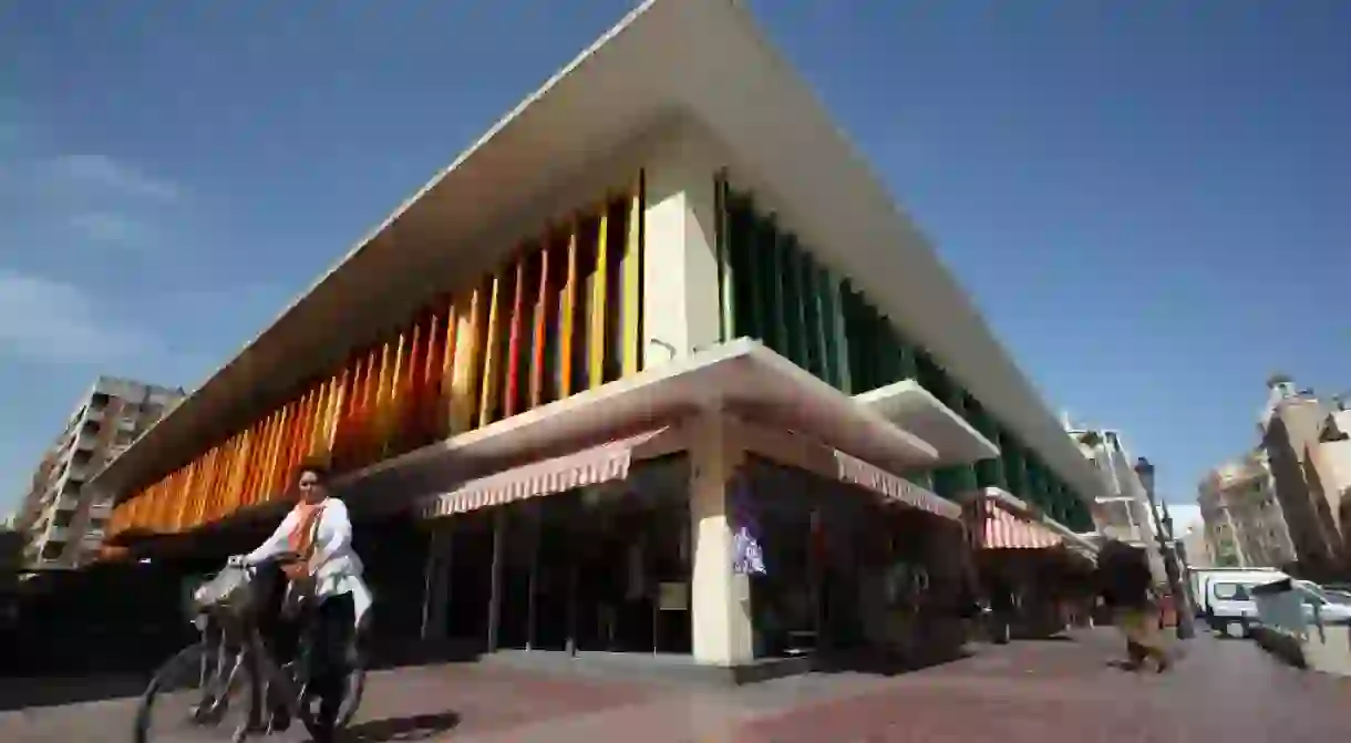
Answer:
<svg viewBox="0 0 1351 743"><path fill-rule="evenodd" d="M689 519L693 536L690 632L698 663L754 659L750 578L732 573L730 481L744 453L728 440L723 416L704 413L690 436Z"/></svg>

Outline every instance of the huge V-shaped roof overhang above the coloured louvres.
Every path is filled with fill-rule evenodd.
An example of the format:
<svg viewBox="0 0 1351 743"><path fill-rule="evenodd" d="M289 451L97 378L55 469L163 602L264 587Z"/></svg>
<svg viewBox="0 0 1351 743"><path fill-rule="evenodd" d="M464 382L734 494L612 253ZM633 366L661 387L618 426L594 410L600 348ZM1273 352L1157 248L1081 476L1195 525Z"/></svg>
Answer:
<svg viewBox="0 0 1351 743"><path fill-rule="evenodd" d="M470 259L488 261L492 250L512 250L511 240L496 246L486 238L519 222L526 204L567 188L615 143L673 113L711 132L735 159L734 173L763 185L758 196L804 245L851 277L1092 503L1101 489L1094 470L812 91L732 0L647 0L624 16L359 240L91 486L126 497L247 426L316 365L339 361L388 326L390 307L415 294L409 277L453 276Z"/></svg>

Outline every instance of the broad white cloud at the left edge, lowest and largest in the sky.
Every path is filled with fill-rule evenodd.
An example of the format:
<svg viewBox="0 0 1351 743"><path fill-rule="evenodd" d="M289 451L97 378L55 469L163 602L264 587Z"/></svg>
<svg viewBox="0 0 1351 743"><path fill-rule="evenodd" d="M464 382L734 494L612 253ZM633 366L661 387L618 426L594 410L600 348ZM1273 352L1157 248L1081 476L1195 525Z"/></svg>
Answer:
<svg viewBox="0 0 1351 743"><path fill-rule="evenodd" d="M109 319L78 286L0 269L0 354L104 365L158 351L150 334Z"/></svg>

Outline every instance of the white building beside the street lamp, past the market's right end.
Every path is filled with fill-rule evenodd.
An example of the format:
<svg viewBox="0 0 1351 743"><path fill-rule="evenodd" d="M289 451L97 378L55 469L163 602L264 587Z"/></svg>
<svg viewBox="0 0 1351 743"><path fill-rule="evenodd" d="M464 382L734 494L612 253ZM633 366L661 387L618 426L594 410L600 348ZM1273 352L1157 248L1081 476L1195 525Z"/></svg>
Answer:
<svg viewBox="0 0 1351 743"><path fill-rule="evenodd" d="M1065 420L1065 428L1104 482L1104 489L1093 504L1097 532L1146 550L1155 578L1162 581L1163 555L1158 548L1152 505L1135 473L1135 458L1123 442L1121 432L1111 428L1077 428L1069 420Z"/></svg>

